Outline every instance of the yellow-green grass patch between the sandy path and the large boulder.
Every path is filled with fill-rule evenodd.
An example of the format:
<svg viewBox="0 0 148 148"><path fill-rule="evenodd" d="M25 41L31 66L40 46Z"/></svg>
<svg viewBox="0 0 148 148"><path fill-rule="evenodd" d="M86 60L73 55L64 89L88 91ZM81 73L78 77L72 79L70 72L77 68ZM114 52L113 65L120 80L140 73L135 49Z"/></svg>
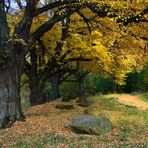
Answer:
<svg viewBox="0 0 148 148"><path fill-rule="evenodd" d="M105 115L118 126L148 124L147 110L121 104L117 101L118 98L114 97L94 96L91 100L96 103L85 110L86 114Z"/></svg>

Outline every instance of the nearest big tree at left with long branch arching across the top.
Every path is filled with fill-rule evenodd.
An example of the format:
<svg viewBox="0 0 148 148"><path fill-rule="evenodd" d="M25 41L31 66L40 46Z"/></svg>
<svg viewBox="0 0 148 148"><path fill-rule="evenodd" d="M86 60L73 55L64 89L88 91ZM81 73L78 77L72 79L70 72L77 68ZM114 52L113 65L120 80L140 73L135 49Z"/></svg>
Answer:
<svg viewBox="0 0 148 148"><path fill-rule="evenodd" d="M11 0L9 2L12 2ZM15 26L14 32L10 35L8 20L6 13L9 11L9 6L5 0L0 0L0 125L6 126L8 123L14 122L21 117L20 112L20 77L24 66L24 58L32 45L41 38L48 30L50 30L55 23L64 20L71 14L78 10L87 7L92 12L96 13L98 17L115 18L117 23L127 25L132 22L140 22L145 20L147 7L139 7L135 15L128 15L132 9L127 9L125 13L124 7L122 9L113 9L112 3L104 3L97 1L77 1L77 0L59 0L49 2L40 7L38 0L29 0L26 6L20 5L19 8L24 9L23 17ZM118 2L119 4L119 2ZM128 2L127 2L128 4ZM45 23L30 33L33 19L41 13L48 10L55 9L55 14L49 18ZM135 11L135 10L134 10ZM133 11L132 11L133 12ZM122 14L122 15L119 15ZM125 15L124 15L125 14Z"/></svg>

